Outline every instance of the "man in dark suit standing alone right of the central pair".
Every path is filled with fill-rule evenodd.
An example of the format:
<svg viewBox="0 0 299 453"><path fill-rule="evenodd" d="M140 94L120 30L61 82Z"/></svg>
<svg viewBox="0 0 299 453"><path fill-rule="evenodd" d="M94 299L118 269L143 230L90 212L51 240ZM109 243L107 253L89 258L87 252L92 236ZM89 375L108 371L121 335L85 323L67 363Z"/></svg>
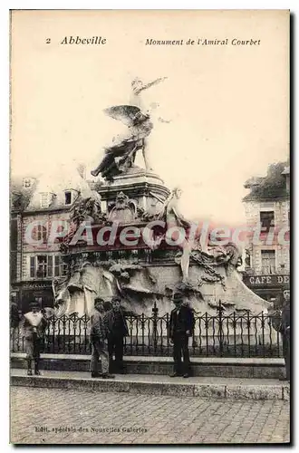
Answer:
<svg viewBox="0 0 299 453"><path fill-rule="evenodd" d="M175 308L170 313L169 338L173 342L174 372L170 377L189 377L189 351L188 339L194 329L194 315L188 304L183 302L183 294L173 294ZM183 363L181 356L183 354Z"/></svg>

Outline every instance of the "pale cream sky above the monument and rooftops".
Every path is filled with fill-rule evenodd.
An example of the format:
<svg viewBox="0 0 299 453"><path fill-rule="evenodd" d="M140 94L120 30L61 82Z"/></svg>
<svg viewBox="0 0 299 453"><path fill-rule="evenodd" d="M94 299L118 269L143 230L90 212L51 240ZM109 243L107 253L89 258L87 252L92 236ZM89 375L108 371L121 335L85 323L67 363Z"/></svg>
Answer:
<svg viewBox="0 0 299 453"><path fill-rule="evenodd" d="M70 35L107 43L61 44ZM260 45L145 44L205 37ZM185 217L244 222L246 179L288 156L285 12L17 11L11 74L12 177L58 181L63 166L74 171L77 162L90 175L103 147L126 129L103 109L129 103L135 77L167 77L142 96L145 107L159 104L148 152L166 185L183 190Z"/></svg>

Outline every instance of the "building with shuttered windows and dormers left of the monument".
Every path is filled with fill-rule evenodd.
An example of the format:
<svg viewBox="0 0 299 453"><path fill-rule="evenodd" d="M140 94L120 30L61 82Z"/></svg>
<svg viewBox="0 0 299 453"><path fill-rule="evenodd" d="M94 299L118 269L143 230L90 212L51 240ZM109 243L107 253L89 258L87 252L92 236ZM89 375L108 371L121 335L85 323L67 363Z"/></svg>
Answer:
<svg viewBox="0 0 299 453"><path fill-rule="evenodd" d="M72 172L72 180L70 174L55 178L55 183L41 176L23 178L17 189L12 184L10 286L12 298L23 312L34 300L53 306L53 279L66 273L59 241L49 246L48 238L54 222L69 227L73 203L91 192L91 182L82 174Z"/></svg>

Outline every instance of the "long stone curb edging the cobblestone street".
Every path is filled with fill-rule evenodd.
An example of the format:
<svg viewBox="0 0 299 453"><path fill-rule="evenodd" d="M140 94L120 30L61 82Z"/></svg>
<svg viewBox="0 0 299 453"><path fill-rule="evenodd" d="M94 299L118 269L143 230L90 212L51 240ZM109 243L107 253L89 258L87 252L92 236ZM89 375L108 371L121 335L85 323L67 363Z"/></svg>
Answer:
<svg viewBox="0 0 299 453"><path fill-rule="evenodd" d="M131 394L199 397L229 400L289 400L288 385L207 384L159 381L117 381L101 379L11 376L11 385L64 390L114 391Z"/></svg>

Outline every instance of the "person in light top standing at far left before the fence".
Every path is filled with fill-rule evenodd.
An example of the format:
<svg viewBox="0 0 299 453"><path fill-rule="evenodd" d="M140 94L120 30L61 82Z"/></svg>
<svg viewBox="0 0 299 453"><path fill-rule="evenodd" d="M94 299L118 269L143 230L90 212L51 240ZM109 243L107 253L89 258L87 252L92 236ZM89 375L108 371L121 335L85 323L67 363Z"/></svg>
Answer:
<svg viewBox="0 0 299 453"><path fill-rule="evenodd" d="M39 371L40 352L43 342L43 332L47 321L43 316L41 306L38 302L30 304L31 311L24 313L21 329L24 335L24 352L27 359L27 374L32 376L32 361L34 360L34 374L41 374Z"/></svg>

